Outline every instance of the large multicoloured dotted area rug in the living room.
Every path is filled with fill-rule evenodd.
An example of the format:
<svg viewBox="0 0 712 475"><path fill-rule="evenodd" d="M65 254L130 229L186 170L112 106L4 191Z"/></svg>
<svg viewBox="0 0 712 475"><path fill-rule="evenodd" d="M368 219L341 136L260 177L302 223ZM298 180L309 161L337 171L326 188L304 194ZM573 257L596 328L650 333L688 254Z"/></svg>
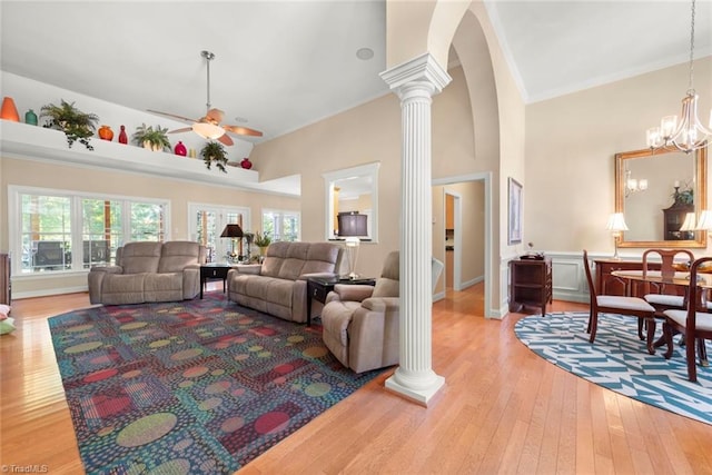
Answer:
<svg viewBox="0 0 712 475"><path fill-rule="evenodd" d="M228 474L379 372L322 327L227 301L106 306L49 319L87 473Z"/></svg>

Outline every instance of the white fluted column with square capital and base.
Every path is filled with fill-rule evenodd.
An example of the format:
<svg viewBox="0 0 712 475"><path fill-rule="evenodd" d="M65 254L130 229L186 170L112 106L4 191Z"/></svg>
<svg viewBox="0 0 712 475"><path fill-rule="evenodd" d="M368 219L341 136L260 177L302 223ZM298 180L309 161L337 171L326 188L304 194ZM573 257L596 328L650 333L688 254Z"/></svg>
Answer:
<svg viewBox="0 0 712 475"><path fill-rule="evenodd" d="M452 78L425 53L380 77L400 98L400 366L386 387L419 404L445 383L433 372L431 103Z"/></svg>

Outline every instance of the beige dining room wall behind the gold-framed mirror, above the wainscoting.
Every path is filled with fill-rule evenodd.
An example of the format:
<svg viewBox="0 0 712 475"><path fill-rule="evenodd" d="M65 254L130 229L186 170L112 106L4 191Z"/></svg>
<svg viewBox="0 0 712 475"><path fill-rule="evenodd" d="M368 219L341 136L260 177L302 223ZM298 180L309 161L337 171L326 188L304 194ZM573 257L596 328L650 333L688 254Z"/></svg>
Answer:
<svg viewBox="0 0 712 475"><path fill-rule="evenodd" d="M712 107L712 58L698 60L700 118ZM536 249L613 253L614 156L645 148L645 130L680 113L688 65L530 105L524 229ZM709 174L708 174L709 176ZM640 249L622 254L639 255Z"/></svg>

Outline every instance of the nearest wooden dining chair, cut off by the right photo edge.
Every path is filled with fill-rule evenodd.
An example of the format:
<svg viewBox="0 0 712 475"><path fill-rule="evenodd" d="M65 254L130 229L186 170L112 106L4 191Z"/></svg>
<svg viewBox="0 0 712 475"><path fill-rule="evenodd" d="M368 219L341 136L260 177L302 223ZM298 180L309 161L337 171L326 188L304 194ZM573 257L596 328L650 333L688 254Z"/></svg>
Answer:
<svg viewBox="0 0 712 475"><path fill-rule="evenodd" d="M690 286L688 287L688 308L684 310L670 309L663 314L663 335L668 344L665 359L670 359L674 352L673 334L681 333L684 336L685 356L688 358L688 378L698 380L698 365L695 357L695 340L701 362L706 362L705 339L712 339L712 314L708 313L706 298L698 285L699 268L702 264L712 261L712 257L702 257L692 263L690 268ZM704 363L703 363L704 364Z"/></svg>

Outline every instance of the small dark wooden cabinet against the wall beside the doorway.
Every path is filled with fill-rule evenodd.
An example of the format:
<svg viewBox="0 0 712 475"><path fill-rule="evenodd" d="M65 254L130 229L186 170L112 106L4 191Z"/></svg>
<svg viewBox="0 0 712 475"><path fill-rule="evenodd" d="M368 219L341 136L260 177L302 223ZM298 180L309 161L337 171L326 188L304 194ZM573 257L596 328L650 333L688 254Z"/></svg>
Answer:
<svg viewBox="0 0 712 475"><path fill-rule="evenodd" d="M542 309L552 303L552 259L510 260L510 311L520 311L524 306Z"/></svg>

